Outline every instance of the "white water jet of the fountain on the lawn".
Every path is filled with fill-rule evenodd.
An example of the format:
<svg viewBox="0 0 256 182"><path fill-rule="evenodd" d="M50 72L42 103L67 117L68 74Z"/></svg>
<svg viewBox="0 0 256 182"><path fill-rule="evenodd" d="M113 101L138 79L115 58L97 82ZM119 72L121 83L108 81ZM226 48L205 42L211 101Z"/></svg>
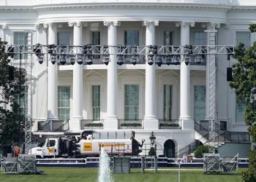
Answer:
<svg viewBox="0 0 256 182"><path fill-rule="evenodd" d="M113 182L110 170L110 159L108 158L108 154L105 152L104 148L100 151L98 182Z"/></svg>

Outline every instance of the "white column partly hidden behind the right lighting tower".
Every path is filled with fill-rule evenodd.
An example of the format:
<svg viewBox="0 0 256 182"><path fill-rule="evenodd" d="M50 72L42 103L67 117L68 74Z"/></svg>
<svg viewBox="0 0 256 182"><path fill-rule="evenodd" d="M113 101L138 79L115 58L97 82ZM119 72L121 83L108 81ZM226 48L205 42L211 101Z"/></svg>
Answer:
<svg viewBox="0 0 256 182"><path fill-rule="evenodd" d="M219 28L219 24L216 23L207 23L206 29L207 31L215 31L215 27ZM209 37L207 36L207 42L210 42ZM215 44L215 39L211 41L212 44ZM209 119L209 57L206 57L206 120Z"/></svg>

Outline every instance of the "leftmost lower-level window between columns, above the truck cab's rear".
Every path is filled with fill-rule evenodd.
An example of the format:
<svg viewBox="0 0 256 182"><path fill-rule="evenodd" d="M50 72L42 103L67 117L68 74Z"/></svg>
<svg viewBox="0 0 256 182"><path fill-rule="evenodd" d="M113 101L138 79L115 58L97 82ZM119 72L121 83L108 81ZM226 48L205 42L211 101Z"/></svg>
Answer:
<svg viewBox="0 0 256 182"><path fill-rule="evenodd" d="M59 119L70 119L70 87L58 87L58 115Z"/></svg>

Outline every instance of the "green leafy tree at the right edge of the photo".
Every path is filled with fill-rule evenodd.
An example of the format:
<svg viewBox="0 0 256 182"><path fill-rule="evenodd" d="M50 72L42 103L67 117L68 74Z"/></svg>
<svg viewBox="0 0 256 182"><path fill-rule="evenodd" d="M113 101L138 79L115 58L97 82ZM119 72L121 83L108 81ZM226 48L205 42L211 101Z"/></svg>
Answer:
<svg viewBox="0 0 256 182"><path fill-rule="evenodd" d="M249 26L252 33L256 32L256 24ZM256 42L246 49L244 44L238 44L235 49L237 63L233 67L233 81L230 87L235 89L237 99L246 101L244 121L248 126L252 143L256 142ZM256 181L256 146L249 151L249 168L242 178L244 181Z"/></svg>

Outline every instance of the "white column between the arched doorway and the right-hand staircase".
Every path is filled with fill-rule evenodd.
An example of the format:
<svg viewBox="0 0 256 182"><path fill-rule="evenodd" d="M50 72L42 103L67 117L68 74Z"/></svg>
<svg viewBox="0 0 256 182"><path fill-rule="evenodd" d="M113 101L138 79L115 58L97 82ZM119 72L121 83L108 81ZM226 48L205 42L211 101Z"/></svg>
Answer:
<svg viewBox="0 0 256 182"><path fill-rule="evenodd" d="M181 26L181 46L189 45L189 25L194 23L180 23ZM184 49L181 49L184 52ZM191 121L190 105L190 66L185 64L184 55L181 55L180 71L180 116L181 127L183 130L194 130L194 122Z"/></svg>

